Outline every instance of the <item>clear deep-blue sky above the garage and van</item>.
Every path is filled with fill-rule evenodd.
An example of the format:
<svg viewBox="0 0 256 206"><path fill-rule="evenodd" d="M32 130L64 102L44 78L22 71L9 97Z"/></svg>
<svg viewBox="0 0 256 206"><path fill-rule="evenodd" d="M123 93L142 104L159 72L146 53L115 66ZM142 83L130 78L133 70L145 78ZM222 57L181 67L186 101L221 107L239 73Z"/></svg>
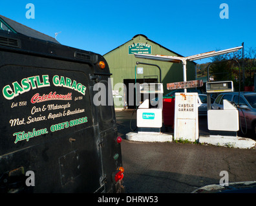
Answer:
<svg viewBox="0 0 256 206"><path fill-rule="evenodd" d="M34 19L26 17L28 3ZM1 0L0 14L51 37L60 32L61 44L101 55L137 34L184 57L242 42L245 51L256 48L256 0Z"/></svg>

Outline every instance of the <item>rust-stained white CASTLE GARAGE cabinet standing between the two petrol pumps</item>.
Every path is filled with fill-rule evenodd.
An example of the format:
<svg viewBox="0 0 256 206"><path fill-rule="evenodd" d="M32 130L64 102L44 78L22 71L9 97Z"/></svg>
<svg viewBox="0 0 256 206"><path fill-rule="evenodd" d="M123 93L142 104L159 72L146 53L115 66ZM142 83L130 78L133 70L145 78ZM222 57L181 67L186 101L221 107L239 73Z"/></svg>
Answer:
<svg viewBox="0 0 256 206"><path fill-rule="evenodd" d="M198 140L198 93L175 93L175 140Z"/></svg>

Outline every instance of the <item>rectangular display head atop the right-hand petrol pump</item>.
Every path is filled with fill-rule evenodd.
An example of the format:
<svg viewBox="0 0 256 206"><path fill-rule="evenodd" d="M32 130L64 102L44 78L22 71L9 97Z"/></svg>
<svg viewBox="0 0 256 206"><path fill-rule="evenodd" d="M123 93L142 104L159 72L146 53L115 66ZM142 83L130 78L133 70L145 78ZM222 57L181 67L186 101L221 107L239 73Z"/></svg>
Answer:
<svg viewBox="0 0 256 206"><path fill-rule="evenodd" d="M233 92L233 90L234 89L232 81L206 82L207 93Z"/></svg>

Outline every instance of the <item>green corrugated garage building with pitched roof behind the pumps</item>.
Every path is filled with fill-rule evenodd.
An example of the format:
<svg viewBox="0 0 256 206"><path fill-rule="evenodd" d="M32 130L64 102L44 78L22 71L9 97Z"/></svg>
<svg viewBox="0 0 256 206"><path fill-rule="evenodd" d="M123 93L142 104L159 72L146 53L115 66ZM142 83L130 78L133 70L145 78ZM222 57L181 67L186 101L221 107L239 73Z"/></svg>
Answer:
<svg viewBox="0 0 256 206"><path fill-rule="evenodd" d="M183 66L181 62L172 63L138 59L134 57L133 53L182 57L182 55L165 48L142 34L135 35L130 41L103 55L112 73L112 91L116 108L134 108L135 102L131 104L131 101L129 101L129 98L131 98L129 97L129 83L135 83L135 79L140 84L143 82L160 82L161 70L164 94L169 92L166 86L167 83L183 81ZM136 62L156 64L160 67L160 70L157 66L145 64L136 66ZM187 80L195 80L195 65L195 62L187 62Z"/></svg>

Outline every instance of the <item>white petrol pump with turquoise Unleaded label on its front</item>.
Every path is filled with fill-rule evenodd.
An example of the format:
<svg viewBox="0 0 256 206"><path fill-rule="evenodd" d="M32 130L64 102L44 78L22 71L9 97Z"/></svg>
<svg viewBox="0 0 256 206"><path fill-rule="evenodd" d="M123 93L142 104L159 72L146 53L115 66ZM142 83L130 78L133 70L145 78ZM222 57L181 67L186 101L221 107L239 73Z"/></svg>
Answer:
<svg viewBox="0 0 256 206"><path fill-rule="evenodd" d="M162 127L163 84L140 84L140 93L144 94L144 102L137 109L138 133L160 133ZM151 102L157 104L152 107Z"/></svg>

